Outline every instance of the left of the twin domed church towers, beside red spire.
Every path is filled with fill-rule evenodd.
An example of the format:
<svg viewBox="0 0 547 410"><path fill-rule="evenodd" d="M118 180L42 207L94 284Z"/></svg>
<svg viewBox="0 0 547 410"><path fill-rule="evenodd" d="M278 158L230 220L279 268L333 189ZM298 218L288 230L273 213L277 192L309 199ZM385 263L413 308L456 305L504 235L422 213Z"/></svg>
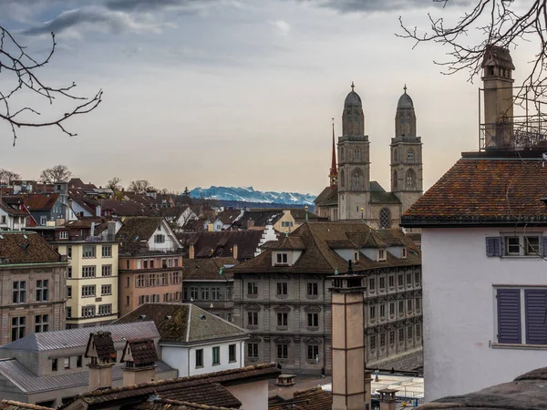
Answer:
<svg viewBox="0 0 547 410"><path fill-rule="evenodd" d="M351 91L344 102L342 137L338 138L338 219L359 220L368 215L370 159L361 97Z"/></svg>

